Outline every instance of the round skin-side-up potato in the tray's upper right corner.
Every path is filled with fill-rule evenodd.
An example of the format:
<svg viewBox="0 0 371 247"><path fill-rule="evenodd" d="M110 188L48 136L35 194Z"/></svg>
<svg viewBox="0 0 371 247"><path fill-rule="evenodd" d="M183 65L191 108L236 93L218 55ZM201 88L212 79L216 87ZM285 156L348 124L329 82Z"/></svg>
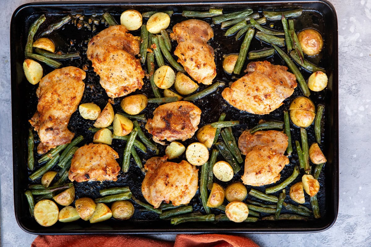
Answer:
<svg viewBox="0 0 371 247"><path fill-rule="evenodd" d="M314 29L306 29L298 34L298 40L303 53L308 56L314 56L321 52L324 46L324 40L321 34Z"/></svg>

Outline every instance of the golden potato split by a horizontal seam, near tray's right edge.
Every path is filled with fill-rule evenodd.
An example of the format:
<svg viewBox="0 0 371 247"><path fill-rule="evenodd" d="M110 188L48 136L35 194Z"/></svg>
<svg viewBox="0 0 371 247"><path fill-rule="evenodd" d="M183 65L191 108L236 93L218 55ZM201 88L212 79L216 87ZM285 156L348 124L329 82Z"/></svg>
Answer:
<svg viewBox="0 0 371 247"><path fill-rule="evenodd" d="M304 96L294 99L289 110L291 121L298 127L306 128L310 126L316 116L312 100Z"/></svg>

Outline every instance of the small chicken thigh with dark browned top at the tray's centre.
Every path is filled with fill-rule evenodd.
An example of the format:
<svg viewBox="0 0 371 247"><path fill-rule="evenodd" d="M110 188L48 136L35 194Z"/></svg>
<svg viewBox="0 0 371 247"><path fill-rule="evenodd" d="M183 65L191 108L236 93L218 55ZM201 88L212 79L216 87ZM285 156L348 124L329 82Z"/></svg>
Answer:
<svg viewBox="0 0 371 247"><path fill-rule="evenodd" d="M176 101L157 107L145 128L155 142L165 145L162 140L185 141L191 138L198 129L200 117L200 108L188 101Z"/></svg>

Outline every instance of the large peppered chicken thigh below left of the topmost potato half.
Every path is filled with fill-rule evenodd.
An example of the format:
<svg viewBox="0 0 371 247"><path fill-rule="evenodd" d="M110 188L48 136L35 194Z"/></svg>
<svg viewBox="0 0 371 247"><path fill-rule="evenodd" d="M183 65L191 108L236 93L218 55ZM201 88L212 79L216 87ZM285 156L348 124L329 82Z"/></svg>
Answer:
<svg viewBox="0 0 371 247"><path fill-rule="evenodd" d="M116 25L92 37L86 55L108 97L125 96L141 89L144 71L135 55L139 53L140 38L127 33L125 26Z"/></svg>

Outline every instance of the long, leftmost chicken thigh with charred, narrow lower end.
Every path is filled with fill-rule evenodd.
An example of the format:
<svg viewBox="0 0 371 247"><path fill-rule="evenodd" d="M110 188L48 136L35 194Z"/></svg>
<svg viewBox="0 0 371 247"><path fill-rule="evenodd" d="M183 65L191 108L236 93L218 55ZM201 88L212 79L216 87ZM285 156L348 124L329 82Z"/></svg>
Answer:
<svg viewBox="0 0 371 247"><path fill-rule="evenodd" d="M69 119L84 92L85 72L76 67L56 69L44 76L36 90L37 110L29 120L40 137L37 153L44 154L75 136L68 130Z"/></svg>

